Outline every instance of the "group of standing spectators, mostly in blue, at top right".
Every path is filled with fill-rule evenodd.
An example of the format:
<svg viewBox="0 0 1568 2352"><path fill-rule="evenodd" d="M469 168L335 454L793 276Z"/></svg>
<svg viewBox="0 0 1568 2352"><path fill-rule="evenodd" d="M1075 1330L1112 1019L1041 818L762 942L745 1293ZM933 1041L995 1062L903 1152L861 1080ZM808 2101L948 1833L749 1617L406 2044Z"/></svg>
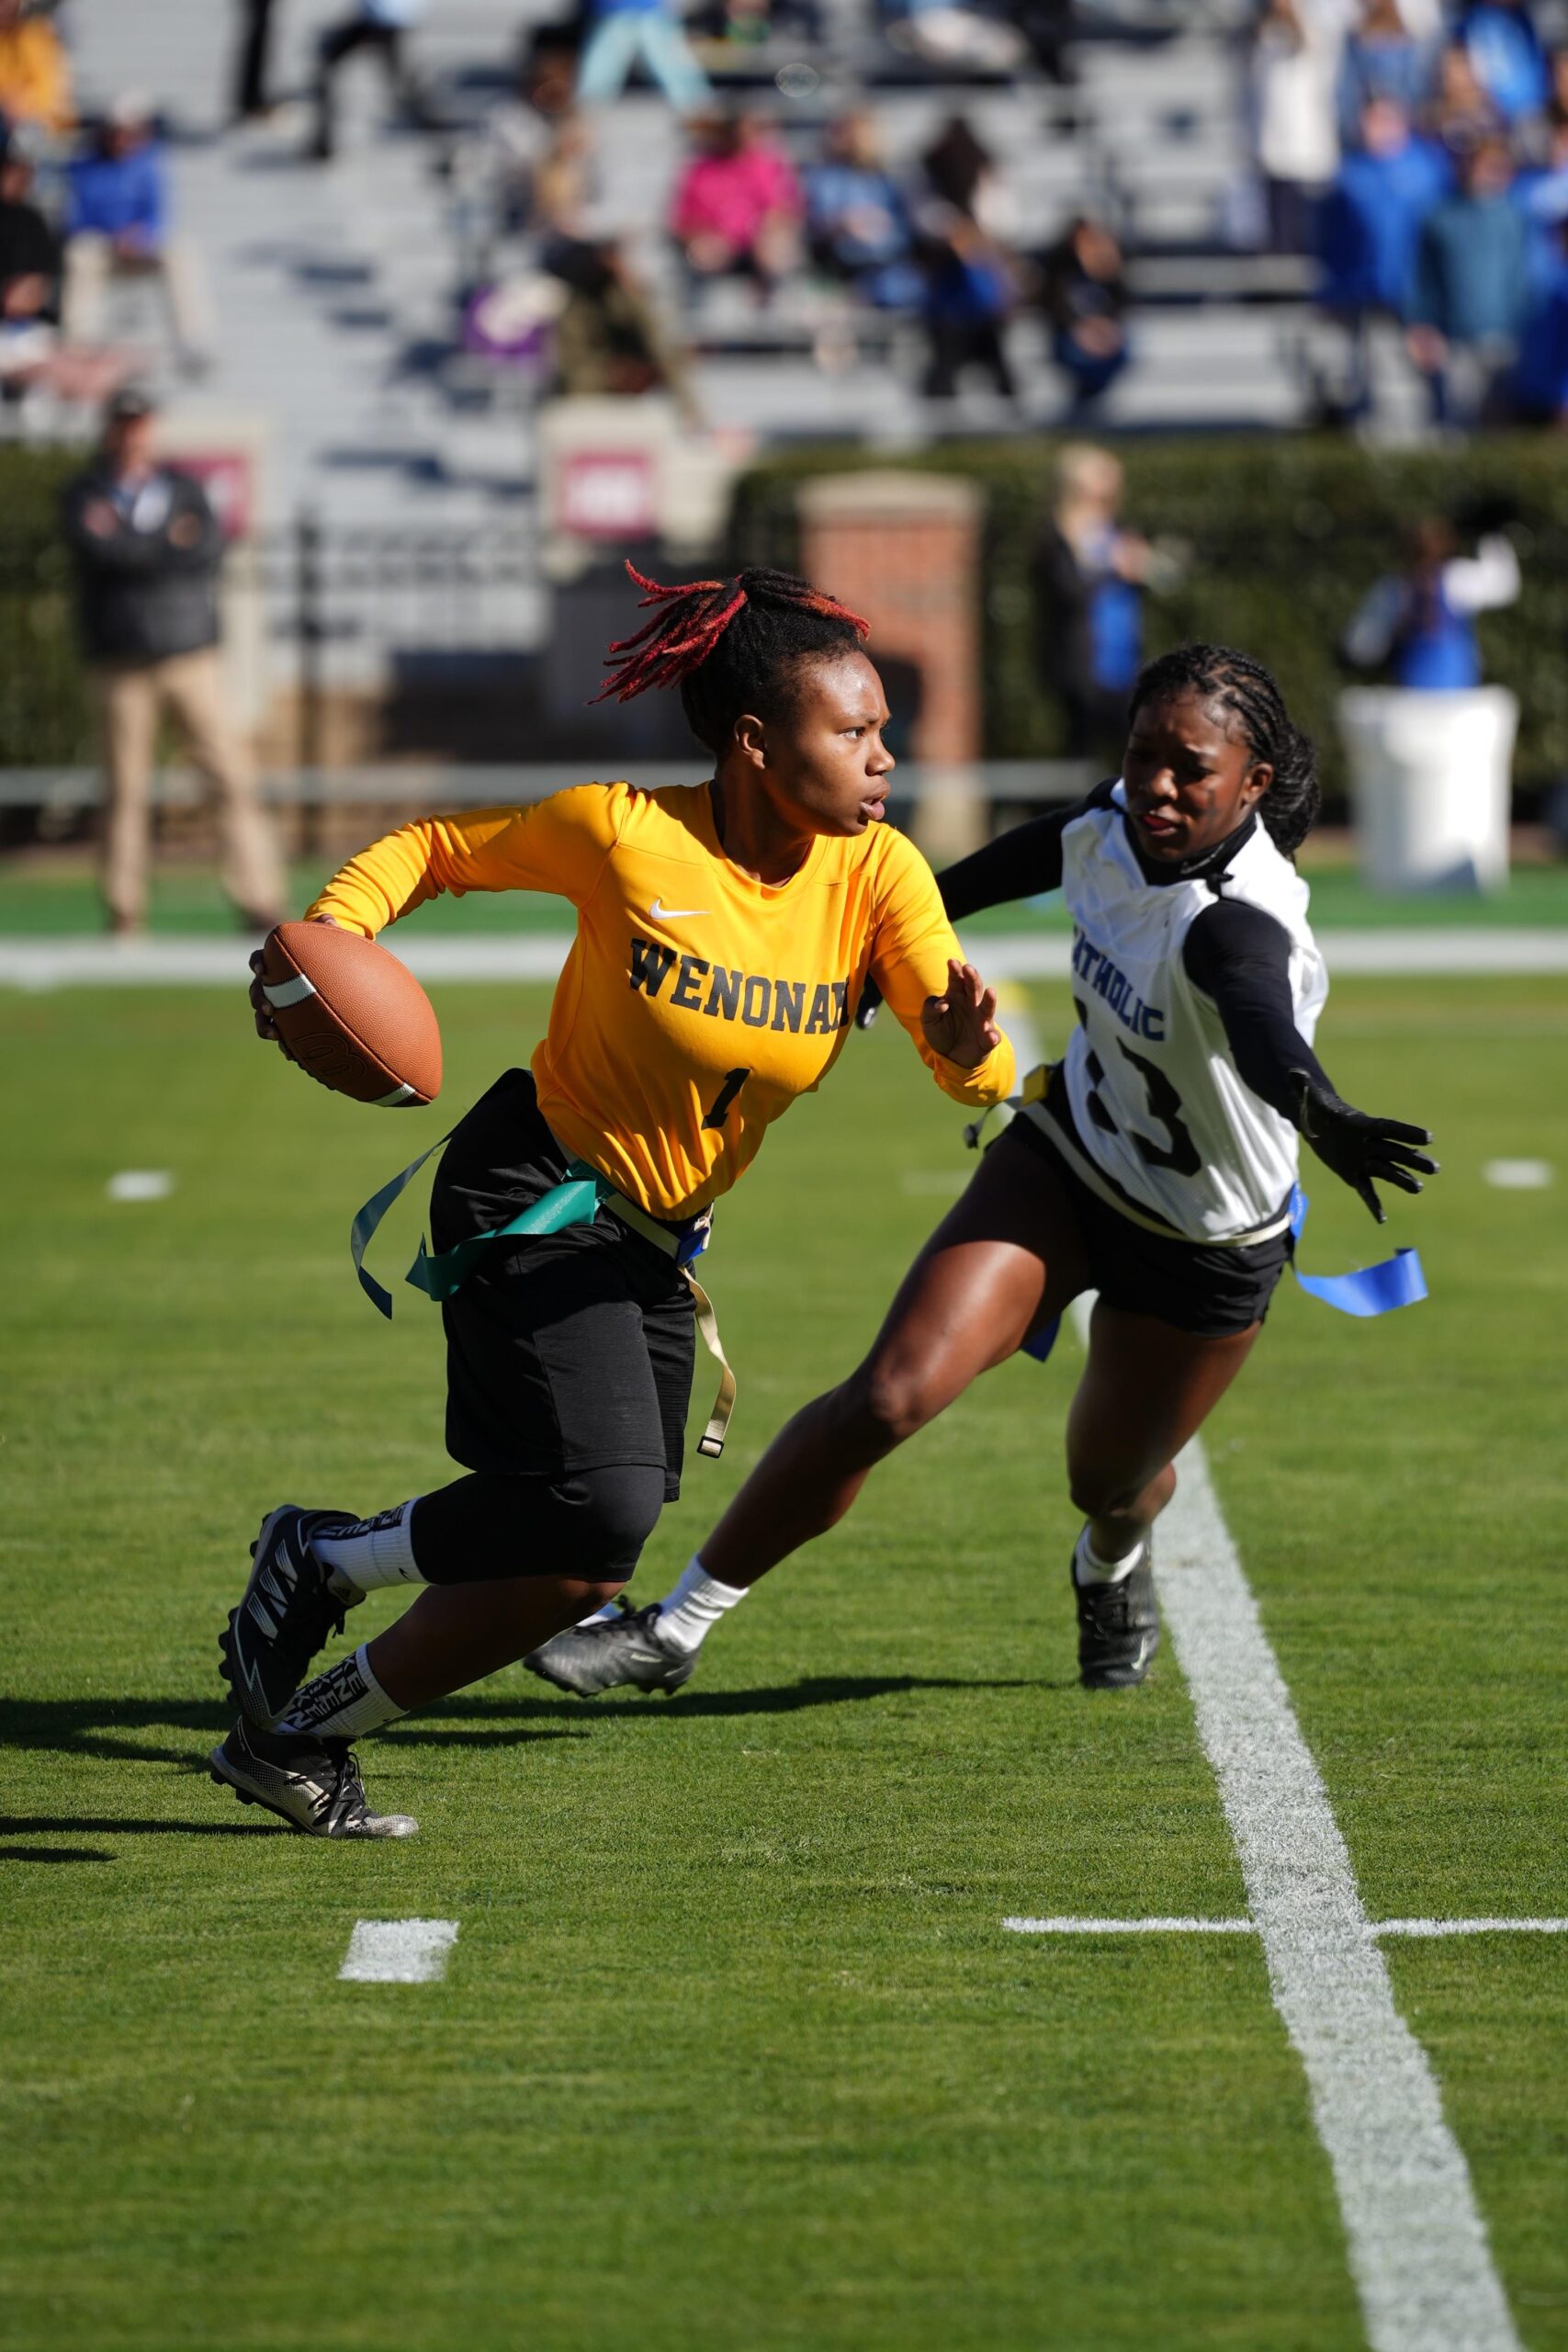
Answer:
<svg viewBox="0 0 1568 2352"><path fill-rule="evenodd" d="M1265 0L1251 99L1269 242L1319 259L1345 332L1347 421L1380 343L1439 426L1568 414L1568 49L1530 0Z"/></svg>

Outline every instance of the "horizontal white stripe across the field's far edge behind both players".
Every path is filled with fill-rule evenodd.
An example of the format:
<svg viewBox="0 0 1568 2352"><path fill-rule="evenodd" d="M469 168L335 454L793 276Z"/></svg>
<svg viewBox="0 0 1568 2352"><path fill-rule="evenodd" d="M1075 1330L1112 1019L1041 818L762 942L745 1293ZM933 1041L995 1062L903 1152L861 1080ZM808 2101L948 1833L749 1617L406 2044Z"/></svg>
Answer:
<svg viewBox="0 0 1568 2352"><path fill-rule="evenodd" d="M571 948L569 931L527 938L381 938L421 981L552 981ZM1065 981L1072 941L1060 931L976 931L973 955L987 981ZM1373 974L1568 971L1568 927L1324 931L1319 948L1335 978ZM5 938L0 988L244 988L244 941L223 938Z"/></svg>

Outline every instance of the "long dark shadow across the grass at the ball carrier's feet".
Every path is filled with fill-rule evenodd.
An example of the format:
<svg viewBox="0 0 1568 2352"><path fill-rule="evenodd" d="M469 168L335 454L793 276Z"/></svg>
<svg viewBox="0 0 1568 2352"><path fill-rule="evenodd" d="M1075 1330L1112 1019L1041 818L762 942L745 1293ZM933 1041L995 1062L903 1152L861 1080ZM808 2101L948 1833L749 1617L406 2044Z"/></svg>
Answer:
<svg viewBox="0 0 1568 2352"><path fill-rule="evenodd" d="M966 1682L952 1675L804 1675L752 1691L682 1691L672 1700L646 1696L567 1698L461 1691L395 1726L404 1745L480 1748L524 1740L581 1740L592 1722L679 1724L712 1717L795 1715L799 1708L844 1708L867 1698L900 1698L907 1691L1039 1691L1039 1677L1013 1682ZM207 1757L136 1738L143 1731L197 1731L216 1736L233 1724L233 1708L219 1698L0 1698L0 1748L33 1748L54 1755L101 1757L122 1764L207 1766ZM510 1726L510 1729L505 1729ZM127 1736L129 1733L129 1736ZM5 1828L5 1823L0 1823ZM63 1823L61 1823L63 1828ZM110 1828L110 1823L103 1823ZM115 1828L132 1828L118 1823ZM179 1828L143 1823L141 1828ZM237 1832L256 1835L256 1832Z"/></svg>

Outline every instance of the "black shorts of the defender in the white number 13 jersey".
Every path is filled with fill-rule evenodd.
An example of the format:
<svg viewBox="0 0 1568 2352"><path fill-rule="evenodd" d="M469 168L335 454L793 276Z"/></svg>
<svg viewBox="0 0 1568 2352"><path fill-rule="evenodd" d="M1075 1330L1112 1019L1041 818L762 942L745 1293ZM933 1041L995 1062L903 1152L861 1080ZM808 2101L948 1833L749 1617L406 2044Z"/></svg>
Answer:
<svg viewBox="0 0 1568 2352"><path fill-rule="evenodd" d="M1088 1277L1110 1308L1154 1315L1199 1338L1251 1331L1269 1312L1274 1284L1291 1263L1288 1232L1241 1249L1166 1240L1100 1200L1034 1120L1016 1117L994 1148L1013 1143L1037 1152L1060 1178L1079 1221Z"/></svg>

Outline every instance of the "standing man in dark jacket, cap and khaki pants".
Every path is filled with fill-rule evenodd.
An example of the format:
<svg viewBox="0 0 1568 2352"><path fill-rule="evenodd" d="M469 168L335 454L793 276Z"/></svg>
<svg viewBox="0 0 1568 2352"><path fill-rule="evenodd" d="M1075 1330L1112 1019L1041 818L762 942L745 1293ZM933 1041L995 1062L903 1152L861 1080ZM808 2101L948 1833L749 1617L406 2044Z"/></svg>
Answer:
<svg viewBox="0 0 1568 2352"><path fill-rule="evenodd" d="M146 922L148 788L158 720L169 713L219 800L223 889L247 929L268 931L284 906L284 873L249 755L226 710L219 663L223 532L200 482L153 461L146 393L120 390L108 402L99 454L66 489L63 520L103 734L110 929L134 936Z"/></svg>

